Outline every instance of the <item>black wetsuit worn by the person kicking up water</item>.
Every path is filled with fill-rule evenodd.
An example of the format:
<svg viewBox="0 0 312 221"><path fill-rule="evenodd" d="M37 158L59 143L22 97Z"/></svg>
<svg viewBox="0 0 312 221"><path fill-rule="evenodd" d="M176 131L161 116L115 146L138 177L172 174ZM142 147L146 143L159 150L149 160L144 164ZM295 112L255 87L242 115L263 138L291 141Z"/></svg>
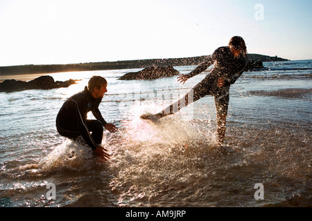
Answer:
<svg viewBox="0 0 312 221"><path fill-rule="evenodd" d="M198 75L209 68L211 64L214 64L214 68L212 68L209 75L202 79L187 95L165 108L159 114L162 116L173 114L180 111L180 108L191 104L191 102L196 102L206 95L213 95L217 113L227 115L229 87L241 76L247 63L248 59L246 57L234 57L229 47L218 48L208 61L200 64L187 77L190 78ZM218 86L218 79L220 77L225 79L225 84L222 87Z"/></svg>

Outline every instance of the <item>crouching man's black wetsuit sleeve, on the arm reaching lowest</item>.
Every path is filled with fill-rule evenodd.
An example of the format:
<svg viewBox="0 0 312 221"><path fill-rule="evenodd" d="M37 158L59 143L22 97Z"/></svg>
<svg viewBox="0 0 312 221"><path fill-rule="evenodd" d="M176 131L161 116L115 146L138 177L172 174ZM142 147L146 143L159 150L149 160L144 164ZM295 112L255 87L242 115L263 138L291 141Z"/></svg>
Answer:
<svg viewBox="0 0 312 221"><path fill-rule="evenodd" d="M73 99L70 102L73 105L75 113L76 113L76 119L77 119L80 134L83 136L83 139L85 140L85 142L87 142L87 144L93 150L95 150L98 147L98 144L96 144L96 142L94 142L94 140L92 139L89 129L87 128L87 125L85 124L83 117L80 114L77 102Z"/></svg>

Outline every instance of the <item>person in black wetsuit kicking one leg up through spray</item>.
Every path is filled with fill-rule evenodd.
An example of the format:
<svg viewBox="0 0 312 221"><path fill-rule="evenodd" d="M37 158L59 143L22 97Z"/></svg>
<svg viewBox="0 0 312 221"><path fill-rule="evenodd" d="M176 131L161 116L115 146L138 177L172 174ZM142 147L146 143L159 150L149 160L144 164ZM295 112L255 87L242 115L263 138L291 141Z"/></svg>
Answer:
<svg viewBox="0 0 312 221"><path fill-rule="evenodd" d="M199 84L197 84L187 95L165 108L156 115L142 115L144 119L155 119L172 115L180 108L196 102L206 95L214 96L216 104L217 117L217 139L218 144L222 145L225 137L225 123L227 108L229 106L229 87L238 79L248 63L247 48L242 37L234 36L229 40L229 46L220 47L214 51L208 61L200 64L195 70L188 75L178 77L178 81L184 84L187 79L202 73L214 64L209 75L207 75ZM193 99L189 99L189 98Z"/></svg>

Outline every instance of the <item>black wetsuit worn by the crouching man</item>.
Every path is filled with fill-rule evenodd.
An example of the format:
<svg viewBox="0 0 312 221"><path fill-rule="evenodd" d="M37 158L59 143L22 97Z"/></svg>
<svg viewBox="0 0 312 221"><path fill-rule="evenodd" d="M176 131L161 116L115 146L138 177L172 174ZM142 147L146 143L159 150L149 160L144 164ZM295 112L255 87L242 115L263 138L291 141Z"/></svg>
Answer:
<svg viewBox="0 0 312 221"><path fill-rule="evenodd" d="M58 133L71 139L82 135L87 144L95 150L102 142L103 126L106 124L98 110L101 100L101 98L94 98L87 87L82 92L69 97L56 117ZM89 111L92 111L96 119L87 119Z"/></svg>

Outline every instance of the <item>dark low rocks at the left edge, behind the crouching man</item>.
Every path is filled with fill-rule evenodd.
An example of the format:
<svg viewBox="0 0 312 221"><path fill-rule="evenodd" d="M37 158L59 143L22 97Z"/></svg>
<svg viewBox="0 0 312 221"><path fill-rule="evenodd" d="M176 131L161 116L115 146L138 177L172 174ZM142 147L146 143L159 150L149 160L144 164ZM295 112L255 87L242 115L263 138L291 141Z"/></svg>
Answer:
<svg viewBox="0 0 312 221"><path fill-rule="evenodd" d="M17 81L15 79L5 80L0 83L0 92L12 92L15 90L41 89L49 90L53 88L67 88L71 84L76 84L77 80L54 81L51 76L41 76L31 81Z"/></svg>

